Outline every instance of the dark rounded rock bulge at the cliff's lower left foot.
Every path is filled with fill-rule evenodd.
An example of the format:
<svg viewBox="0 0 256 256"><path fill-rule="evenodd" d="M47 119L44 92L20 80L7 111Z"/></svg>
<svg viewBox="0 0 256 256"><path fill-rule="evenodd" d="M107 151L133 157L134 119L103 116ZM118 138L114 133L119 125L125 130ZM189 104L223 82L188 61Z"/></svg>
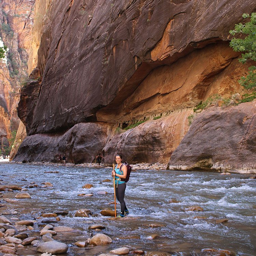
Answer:
<svg viewBox="0 0 256 256"><path fill-rule="evenodd" d="M104 124L80 123L63 134L35 134L20 145L15 161L56 162L59 154L68 161L92 162L104 146L109 127Z"/></svg>

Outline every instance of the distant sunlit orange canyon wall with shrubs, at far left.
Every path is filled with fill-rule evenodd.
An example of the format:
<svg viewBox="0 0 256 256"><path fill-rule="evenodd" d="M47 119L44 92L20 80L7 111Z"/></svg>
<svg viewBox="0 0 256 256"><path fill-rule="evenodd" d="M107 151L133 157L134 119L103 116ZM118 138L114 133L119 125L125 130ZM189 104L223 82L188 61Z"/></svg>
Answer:
<svg viewBox="0 0 256 256"><path fill-rule="evenodd" d="M20 123L16 107L19 89L28 76L34 1L0 1L0 42L8 47L6 58L0 61L1 150L9 147Z"/></svg>

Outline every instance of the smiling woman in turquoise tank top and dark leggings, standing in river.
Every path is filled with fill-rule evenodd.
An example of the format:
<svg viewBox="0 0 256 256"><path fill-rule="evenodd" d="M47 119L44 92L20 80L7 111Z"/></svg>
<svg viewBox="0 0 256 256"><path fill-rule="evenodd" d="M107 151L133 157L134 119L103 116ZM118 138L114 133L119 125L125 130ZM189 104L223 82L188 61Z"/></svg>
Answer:
<svg viewBox="0 0 256 256"><path fill-rule="evenodd" d="M121 212L119 214L119 218L122 218L129 214L129 211L125 205L124 197L125 197L125 189L126 183L125 178L127 175L127 167L122 163L122 156L116 155L116 165L114 170L112 171L112 177L115 177L115 190L116 190L116 198L120 202Z"/></svg>

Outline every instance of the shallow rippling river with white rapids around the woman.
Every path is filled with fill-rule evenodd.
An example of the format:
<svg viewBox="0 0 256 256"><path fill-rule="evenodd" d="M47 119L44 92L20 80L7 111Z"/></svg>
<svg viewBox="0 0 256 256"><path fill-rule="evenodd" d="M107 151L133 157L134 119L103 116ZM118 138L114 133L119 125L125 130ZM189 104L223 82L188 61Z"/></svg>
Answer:
<svg viewBox="0 0 256 256"><path fill-rule="evenodd" d="M49 173L58 171L59 173ZM46 173L47 172L47 173ZM19 218L37 218L41 213L69 211L55 226L69 226L80 232L55 238L69 245L66 255L99 255L123 246L131 250L163 251L171 255L205 255L205 248L233 251L236 255L256 255L256 186L251 175L220 175L214 172L184 172L172 170L140 170L131 173L125 201L130 218L114 219L101 216L104 208L114 209L113 182L110 168L64 167L1 163L1 184L28 187L31 182L42 185L51 182L52 188L29 188L30 199L5 203L15 209ZM94 187L83 189L90 183ZM99 191L106 191L102 195ZM17 191L3 192L13 198ZM93 197L77 196L92 193ZM1 198L0 198L1 199ZM170 199L179 202L169 203ZM1 202L3 202L1 200ZM203 211L186 211L198 205ZM120 205L117 204L117 210ZM73 217L76 210L89 209L98 217ZM0 208L2 212L3 209ZM8 218L15 215L5 215ZM227 218L224 224L216 220ZM93 224L106 227L102 233L111 237L106 246L78 248L74 242L91 237ZM150 224L160 224L151 228ZM40 227L35 226L38 231ZM147 239L152 233L159 237ZM26 255L26 254L24 254ZM35 254L35 255L40 255ZM211 254L208 254L211 255ZM213 254L212 254L213 255Z"/></svg>

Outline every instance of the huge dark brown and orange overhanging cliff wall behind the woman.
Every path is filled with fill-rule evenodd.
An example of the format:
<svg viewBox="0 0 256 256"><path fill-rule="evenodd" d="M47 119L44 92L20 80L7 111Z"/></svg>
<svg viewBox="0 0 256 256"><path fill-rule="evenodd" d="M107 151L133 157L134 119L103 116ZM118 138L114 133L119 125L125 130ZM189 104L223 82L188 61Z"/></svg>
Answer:
<svg viewBox="0 0 256 256"><path fill-rule="evenodd" d="M229 30L256 9L253 0L36 0L37 5L45 8L35 14L32 47L38 55L31 67L37 66L40 79L21 90L18 114L29 136L17 161L52 160L59 153L74 162L93 161L102 151L108 162L120 152L132 163L168 163L189 130L195 105L215 94L244 93L237 80L247 66L229 47ZM146 122L122 130L139 121ZM60 146L63 140L67 146ZM88 156L81 157L83 151Z"/></svg>

